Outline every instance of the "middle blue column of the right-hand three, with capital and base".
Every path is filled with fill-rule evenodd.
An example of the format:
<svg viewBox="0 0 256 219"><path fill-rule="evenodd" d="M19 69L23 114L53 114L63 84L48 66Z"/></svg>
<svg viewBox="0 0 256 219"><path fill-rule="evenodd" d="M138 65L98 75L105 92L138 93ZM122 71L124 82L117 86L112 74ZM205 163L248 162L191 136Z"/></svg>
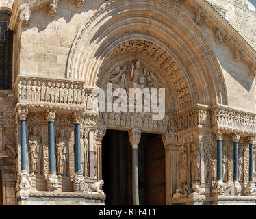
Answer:
<svg viewBox="0 0 256 219"><path fill-rule="evenodd" d="M234 160L234 166L233 166L233 182L234 182L234 194L240 195L241 194L241 185L238 181L238 142L240 139L239 133L233 133L231 135L231 139L233 141L234 147L233 147L233 160Z"/></svg>

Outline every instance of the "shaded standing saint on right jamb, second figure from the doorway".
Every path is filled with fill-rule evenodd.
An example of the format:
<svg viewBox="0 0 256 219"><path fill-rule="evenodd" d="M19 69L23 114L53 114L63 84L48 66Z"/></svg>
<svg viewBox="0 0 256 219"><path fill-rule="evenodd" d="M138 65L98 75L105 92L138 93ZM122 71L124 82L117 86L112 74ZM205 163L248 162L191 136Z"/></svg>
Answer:
<svg viewBox="0 0 256 219"><path fill-rule="evenodd" d="M200 181L200 153L196 149L196 145L192 143L191 153L190 153L190 162L191 162L191 181L192 183L198 183Z"/></svg>

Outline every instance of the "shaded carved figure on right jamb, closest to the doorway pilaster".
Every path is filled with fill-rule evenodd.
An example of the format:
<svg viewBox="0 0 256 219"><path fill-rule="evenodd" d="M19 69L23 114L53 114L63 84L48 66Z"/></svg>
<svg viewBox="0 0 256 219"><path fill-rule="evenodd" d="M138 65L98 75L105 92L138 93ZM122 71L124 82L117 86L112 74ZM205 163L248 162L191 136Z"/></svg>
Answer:
<svg viewBox="0 0 256 219"><path fill-rule="evenodd" d="M187 183L188 153L185 145L179 147L179 181Z"/></svg>

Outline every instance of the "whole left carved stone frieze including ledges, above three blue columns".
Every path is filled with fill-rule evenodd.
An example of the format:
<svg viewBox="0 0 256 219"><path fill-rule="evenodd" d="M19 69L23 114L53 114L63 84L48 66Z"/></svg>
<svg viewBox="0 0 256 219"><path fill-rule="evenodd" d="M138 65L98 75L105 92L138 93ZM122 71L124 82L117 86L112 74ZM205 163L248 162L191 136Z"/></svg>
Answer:
<svg viewBox="0 0 256 219"><path fill-rule="evenodd" d="M14 90L15 103L26 103L27 107L92 111L92 88L84 82L20 76Z"/></svg>

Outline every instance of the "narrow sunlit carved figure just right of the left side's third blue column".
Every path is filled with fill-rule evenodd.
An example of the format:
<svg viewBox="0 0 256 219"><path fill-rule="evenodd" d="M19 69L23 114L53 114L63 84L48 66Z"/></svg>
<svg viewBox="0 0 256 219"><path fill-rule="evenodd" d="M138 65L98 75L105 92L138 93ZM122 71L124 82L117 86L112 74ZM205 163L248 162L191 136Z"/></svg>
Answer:
<svg viewBox="0 0 256 219"><path fill-rule="evenodd" d="M89 177L89 133L88 129L81 129L81 172Z"/></svg>

